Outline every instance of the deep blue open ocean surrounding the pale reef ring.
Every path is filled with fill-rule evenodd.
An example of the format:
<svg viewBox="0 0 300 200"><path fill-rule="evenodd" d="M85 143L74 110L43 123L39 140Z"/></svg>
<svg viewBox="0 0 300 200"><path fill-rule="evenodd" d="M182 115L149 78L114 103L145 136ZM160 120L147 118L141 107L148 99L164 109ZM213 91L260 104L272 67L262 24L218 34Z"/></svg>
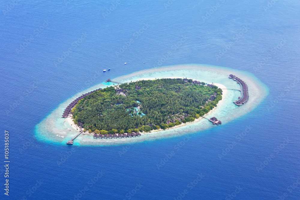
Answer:
<svg viewBox="0 0 300 200"><path fill-rule="evenodd" d="M9 196L1 164L0 199L300 199L300 1L0 5L0 162L4 130L10 160ZM76 147L35 138L35 126L80 91L188 63L253 73L269 94L189 139Z"/></svg>

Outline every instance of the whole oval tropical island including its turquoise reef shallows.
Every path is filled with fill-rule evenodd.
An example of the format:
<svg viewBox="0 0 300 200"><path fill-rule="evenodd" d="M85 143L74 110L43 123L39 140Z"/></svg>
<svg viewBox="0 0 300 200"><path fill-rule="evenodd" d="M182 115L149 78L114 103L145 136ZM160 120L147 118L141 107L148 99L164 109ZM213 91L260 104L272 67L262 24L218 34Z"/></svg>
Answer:
<svg viewBox="0 0 300 200"><path fill-rule="evenodd" d="M234 74L235 77L231 76L229 78L230 74ZM182 81L178 81L181 78ZM155 80L167 81L167 79L177 81L173 82L174 85L170 82L170 85L174 87L165 87L165 85L169 84L168 82L164 84L155 83ZM202 134L203 130L216 128L211 118L213 120L214 117L221 119L222 124L226 124L255 109L268 95L268 87L251 73L205 64L158 67L119 76L112 79L112 82L104 82L104 79L102 80L103 82L70 96L70 98L50 112L37 124L35 130L36 138L42 142L59 145L65 145L72 140L73 145L76 146L115 146L180 137L186 134ZM126 84L113 85L116 82ZM151 83L154 87L146 85L146 83ZM176 88L177 84L180 85L180 90L179 87ZM214 85L218 88L214 87ZM113 86L113 88L110 88L110 86ZM136 86L137 88L135 88ZM159 86L161 87L159 88ZM101 88L105 89L102 90ZM199 91L197 91L198 88ZM111 91L109 92L109 90ZM154 95L152 95L152 92ZM107 95L107 99L98 95L104 95L103 93ZM195 96L199 93L202 96ZM97 106L97 102L101 102L101 99L98 99L99 97L102 98L103 103ZM215 103L217 103L217 106L214 106ZM240 104L242 106L239 106ZM77 110L74 109L74 106ZM213 109L211 109L212 106L214 106ZM176 107L178 107L178 112ZM120 113L123 112L122 118L114 115L110 116L110 113L117 109ZM122 109L123 111L121 112ZM152 110L153 112L151 112ZM131 113L132 111L133 113ZM196 118L202 114L205 115L198 119ZM101 117L103 121L99 120ZM192 118L191 120L195 118L195 120L187 122L189 118ZM135 122L140 123L136 125ZM176 122L179 125L176 125ZM174 124L175 126L173 126ZM149 130L147 125L150 126L150 130L153 130L146 132ZM154 130L155 128L156 130ZM84 129L86 131L82 132ZM108 132L114 132L113 129L118 133L122 133L123 130L127 133L132 132L128 134L112 134L113 138L125 138L124 135L128 138L130 134L131 138L96 139L95 135L98 135L99 138L103 133L103 138L107 138L105 136L112 138ZM134 132L137 131L134 129L139 130L139 132ZM97 130L99 130L102 133L88 133L88 130L94 133L98 133ZM143 133L141 133L142 130ZM142 136L138 137L139 135L137 134ZM118 137L115 137L115 135ZM76 139L74 140L74 138Z"/></svg>

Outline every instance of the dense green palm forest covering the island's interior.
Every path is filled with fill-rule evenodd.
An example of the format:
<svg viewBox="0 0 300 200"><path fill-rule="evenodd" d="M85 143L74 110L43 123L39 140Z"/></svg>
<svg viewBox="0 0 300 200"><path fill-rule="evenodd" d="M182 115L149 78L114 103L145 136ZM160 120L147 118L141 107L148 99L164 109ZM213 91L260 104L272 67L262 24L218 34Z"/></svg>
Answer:
<svg viewBox="0 0 300 200"><path fill-rule="evenodd" d="M73 121L87 130L108 133L149 132L194 121L222 99L220 88L198 83L168 78L107 87L80 100L72 110Z"/></svg>

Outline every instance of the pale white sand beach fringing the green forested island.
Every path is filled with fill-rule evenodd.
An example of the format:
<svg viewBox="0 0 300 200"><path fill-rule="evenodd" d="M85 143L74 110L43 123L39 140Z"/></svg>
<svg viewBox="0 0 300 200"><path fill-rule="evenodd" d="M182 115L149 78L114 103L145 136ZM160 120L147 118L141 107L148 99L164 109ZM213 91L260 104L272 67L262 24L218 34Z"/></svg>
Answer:
<svg viewBox="0 0 300 200"><path fill-rule="evenodd" d="M177 76L172 76L172 77L165 77L165 78L171 78L171 79L175 79L175 78L181 78L181 77L177 77ZM155 78L154 78L155 79ZM153 78L152 79L146 79L146 80L154 80ZM192 78L187 78L187 79L192 79ZM144 79L140 79L140 80L144 80ZM196 79L193 79L193 81L196 80ZM197 80L197 81L200 81L200 80ZM200 81L202 82L202 81ZM212 84L212 83L208 83L208 84ZM227 89L225 87L225 85L222 85L220 83L213 83L214 85L216 85L218 88L223 88L223 89ZM115 86L116 87L116 86ZM208 86L207 86L208 87ZM224 90L222 92L222 99L217 103L217 106L214 106L214 108L212 110L210 110L208 113L205 113L203 115L203 117L206 117L207 115L211 114L212 111L214 111L218 106L220 106L223 102L223 99L226 97L226 94L227 94L227 90ZM163 131L166 131L166 130L171 130L171 129L176 129L176 128L179 128L179 127L183 127L183 126L186 126L186 125L189 125L189 124L194 124L196 122L199 122L200 120L204 119L202 116L200 116L198 119L195 119L195 121L190 121L190 122L186 122L186 123L182 123L182 124L179 124L177 126L173 126L171 128L167 128L167 129L159 129L159 130L152 130L150 132L140 132L142 136L144 135L147 135L147 134L151 134L151 133L154 133L154 132L163 132ZM79 128L76 124L74 124L73 120L72 120L72 116L71 117L67 117L66 118L66 121L70 124L70 126L73 127L74 130L76 131L81 131L83 130L83 128ZM94 135L94 133L81 133L83 135ZM113 139L113 138L112 138Z"/></svg>

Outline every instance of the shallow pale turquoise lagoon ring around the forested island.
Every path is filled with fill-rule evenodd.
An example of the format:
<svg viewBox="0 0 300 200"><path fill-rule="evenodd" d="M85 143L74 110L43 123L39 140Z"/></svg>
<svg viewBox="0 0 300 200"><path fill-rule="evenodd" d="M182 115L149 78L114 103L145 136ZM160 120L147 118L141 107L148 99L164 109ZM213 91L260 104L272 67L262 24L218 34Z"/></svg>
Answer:
<svg viewBox="0 0 300 200"><path fill-rule="evenodd" d="M237 100L240 96L239 91L227 90L226 96L223 95L223 99L220 104L207 114L207 118L216 117L222 121L222 124L228 123L242 115L247 114L268 95L268 88L259 79L257 79L252 73L230 69L227 67L218 67L203 64L182 64L167 67L158 67L148 70L137 71L125 76L119 76L113 81L115 82L131 82L137 80L147 79L160 79L167 77L181 77L191 78L205 83L219 83L226 88L240 89L239 84L232 79L228 78L229 74L233 74L242 79L247 85L249 90L249 100L242 106L236 106L233 101ZM61 118L64 109L74 99L85 94L89 91L105 88L113 85L113 83L101 83L95 85L85 91L79 92L64 103L60 104L57 109L51 112L43 121L36 126L35 136L44 142L66 145L67 141L72 139L79 133L79 130L75 130L69 123L66 122L66 118ZM225 92L225 91L224 91ZM201 117L200 117L201 118ZM182 124L183 126L174 129L142 133L140 137L123 138L123 139L94 139L92 135L79 135L73 145L84 146L107 146L107 145L123 145L129 143L137 143L144 141L151 141L161 138L169 138L182 136L187 133L199 133L201 130L215 127L211 122L206 119L199 120L194 123ZM222 126L222 125L219 125ZM64 135L64 138L62 136ZM61 137L58 137L61 136Z"/></svg>

